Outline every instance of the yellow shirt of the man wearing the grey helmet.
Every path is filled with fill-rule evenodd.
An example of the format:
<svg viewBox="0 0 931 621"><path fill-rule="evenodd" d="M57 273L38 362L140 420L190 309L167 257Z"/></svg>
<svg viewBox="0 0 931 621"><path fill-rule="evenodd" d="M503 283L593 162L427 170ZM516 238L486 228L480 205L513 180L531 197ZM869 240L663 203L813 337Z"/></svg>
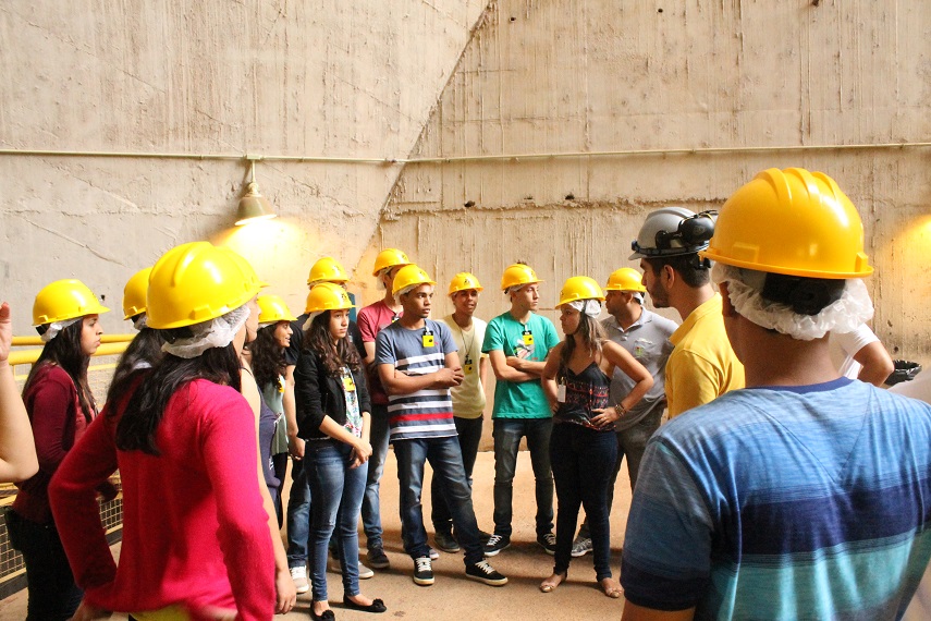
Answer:
<svg viewBox="0 0 931 621"><path fill-rule="evenodd" d="M666 362L670 418L713 401L728 390L744 388L744 365L731 349L722 307L721 295L715 293L670 337L675 345Z"/></svg>

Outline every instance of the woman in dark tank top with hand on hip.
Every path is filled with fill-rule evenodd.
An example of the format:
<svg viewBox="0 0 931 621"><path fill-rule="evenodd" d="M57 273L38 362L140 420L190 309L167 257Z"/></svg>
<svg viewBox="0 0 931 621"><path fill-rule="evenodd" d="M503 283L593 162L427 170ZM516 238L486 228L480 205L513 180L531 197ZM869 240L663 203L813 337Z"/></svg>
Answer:
<svg viewBox="0 0 931 621"><path fill-rule="evenodd" d="M603 300L601 288L588 277L565 282L559 309L566 338L550 351L543 369L543 390L553 409L550 461L559 500L553 573L540 584L543 593L566 579L583 506L591 529L596 580L607 596L622 593L609 563L608 482L617 460L614 422L647 393L653 378L626 350L605 339L597 319ZM608 407L615 369L637 383L616 406Z"/></svg>

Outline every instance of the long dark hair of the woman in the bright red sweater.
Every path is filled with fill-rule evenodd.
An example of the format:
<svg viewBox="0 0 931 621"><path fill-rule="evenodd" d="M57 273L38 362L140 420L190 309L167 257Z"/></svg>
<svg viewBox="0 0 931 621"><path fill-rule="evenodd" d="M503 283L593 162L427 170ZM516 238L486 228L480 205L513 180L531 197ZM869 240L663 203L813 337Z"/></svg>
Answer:
<svg viewBox="0 0 931 621"><path fill-rule="evenodd" d="M188 328L161 332L169 342L191 337ZM152 372L143 377L123 410L123 416L117 424L117 448L123 451L138 450L151 455L161 454L156 446L156 433L168 402L175 392L195 379L231 386L238 392L240 357L233 344L210 348L193 358L164 354ZM132 381L132 377L124 379L123 383L126 381ZM128 387L115 389L125 393Z"/></svg>

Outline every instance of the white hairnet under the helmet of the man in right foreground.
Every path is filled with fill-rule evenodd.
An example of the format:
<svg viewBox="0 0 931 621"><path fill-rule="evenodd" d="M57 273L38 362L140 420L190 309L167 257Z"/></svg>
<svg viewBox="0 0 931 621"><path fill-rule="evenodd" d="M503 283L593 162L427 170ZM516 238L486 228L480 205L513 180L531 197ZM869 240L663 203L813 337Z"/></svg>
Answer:
<svg viewBox="0 0 931 621"><path fill-rule="evenodd" d="M711 280L727 283L731 304L742 316L799 341L820 339L830 331L850 332L873 316L873 303L862 279L847 279L841 297L817 315L795 313L788 305L763 299L767 272L715 263Z"/></svg>

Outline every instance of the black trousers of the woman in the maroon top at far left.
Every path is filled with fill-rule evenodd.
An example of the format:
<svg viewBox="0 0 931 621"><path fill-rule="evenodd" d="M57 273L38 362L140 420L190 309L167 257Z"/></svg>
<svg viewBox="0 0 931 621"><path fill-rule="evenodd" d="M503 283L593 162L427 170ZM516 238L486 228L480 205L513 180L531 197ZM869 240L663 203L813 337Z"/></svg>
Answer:
<svg viewBox="0 0 931 621"><path fill-rule="evenodd" d="M68 557L53 524L38 524L19 515L8 515L8 529L16 539L26 563L29 590L26 621L71 619L84 592L74 584Z"/></svg>

